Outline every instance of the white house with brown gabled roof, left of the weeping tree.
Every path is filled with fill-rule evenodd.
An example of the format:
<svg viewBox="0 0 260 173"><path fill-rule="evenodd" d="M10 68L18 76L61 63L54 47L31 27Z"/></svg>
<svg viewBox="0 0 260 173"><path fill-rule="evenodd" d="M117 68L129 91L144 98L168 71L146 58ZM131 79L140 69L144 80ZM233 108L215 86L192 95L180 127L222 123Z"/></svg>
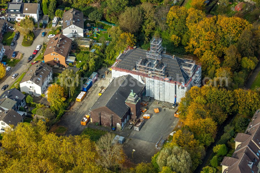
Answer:
<svg viewBox="0 0 260 173"><path fill-rule="evenodd" d="M33 64L20 82L21 92L40 96L52 80L52 68L46 63Z"/></svg>

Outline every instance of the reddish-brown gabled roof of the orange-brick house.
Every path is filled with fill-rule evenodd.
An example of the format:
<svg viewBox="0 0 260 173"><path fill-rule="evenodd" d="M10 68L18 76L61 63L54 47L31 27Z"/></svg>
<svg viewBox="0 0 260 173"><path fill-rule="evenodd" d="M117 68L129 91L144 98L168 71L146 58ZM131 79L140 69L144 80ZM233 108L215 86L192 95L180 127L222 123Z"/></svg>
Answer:
<svg viewBox="0 0 260 173"><path fill-rule="evenodd" d="M56 35L55 37L50 38L43 56L56 52L66 58L69 54L71 43L72 40L63 34Z"/></svg>

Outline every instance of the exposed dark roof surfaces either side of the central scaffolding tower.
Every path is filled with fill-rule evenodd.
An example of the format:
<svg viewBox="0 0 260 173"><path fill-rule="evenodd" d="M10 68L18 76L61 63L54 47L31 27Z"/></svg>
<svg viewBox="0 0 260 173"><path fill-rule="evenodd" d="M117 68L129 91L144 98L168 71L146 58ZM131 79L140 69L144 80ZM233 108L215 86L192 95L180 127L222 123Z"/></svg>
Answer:
<svg viewBox="0 0 260 173"><path fill-rule="evenodd" d="M116 67L126 70L132 70L136 66L136 62L139 62L140 59L146 58L146 52L147 50L143 49L132 49L128 50L126 54L121 54L119 57L119 60L121 60ZM166 65L166 72L168 73L169 78L173 81L178 82L184 82L187 83L190 79L190 77L185 73L183 69L180 68L181 65L190 65L188 63L185 63L185 59L178 58L177 56L174 56L172 58L172 55L167 54L161 54L162 59L161 62L167 63ZM196 65L197 67L197 65Z"/></svg>

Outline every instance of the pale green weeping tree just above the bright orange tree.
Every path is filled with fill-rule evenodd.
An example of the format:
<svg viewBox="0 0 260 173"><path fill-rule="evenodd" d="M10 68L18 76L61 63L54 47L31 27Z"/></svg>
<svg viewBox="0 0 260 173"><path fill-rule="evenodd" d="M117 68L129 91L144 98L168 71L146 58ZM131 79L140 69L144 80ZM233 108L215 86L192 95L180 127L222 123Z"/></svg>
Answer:
<svg viewBox="0 0 260 173"><path fill-rule="evenodd" d="M66 69L59 76L61 86L69 94L69 98L74 95L79 85L79 76L72 70Z"/></svg>

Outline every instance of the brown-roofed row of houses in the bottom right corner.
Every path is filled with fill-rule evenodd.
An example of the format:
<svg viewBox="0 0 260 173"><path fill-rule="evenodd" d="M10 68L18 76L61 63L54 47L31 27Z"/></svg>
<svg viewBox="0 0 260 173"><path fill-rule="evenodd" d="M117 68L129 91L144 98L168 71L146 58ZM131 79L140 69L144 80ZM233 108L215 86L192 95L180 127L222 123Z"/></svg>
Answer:
<svg viewBox="0 0 260 173"><path fill-rule="evenodd" d="M245 133L238 133L234 139L235 152L224 157L222 173L259 173L260 171L260 109L258 109Z"/></svg>

